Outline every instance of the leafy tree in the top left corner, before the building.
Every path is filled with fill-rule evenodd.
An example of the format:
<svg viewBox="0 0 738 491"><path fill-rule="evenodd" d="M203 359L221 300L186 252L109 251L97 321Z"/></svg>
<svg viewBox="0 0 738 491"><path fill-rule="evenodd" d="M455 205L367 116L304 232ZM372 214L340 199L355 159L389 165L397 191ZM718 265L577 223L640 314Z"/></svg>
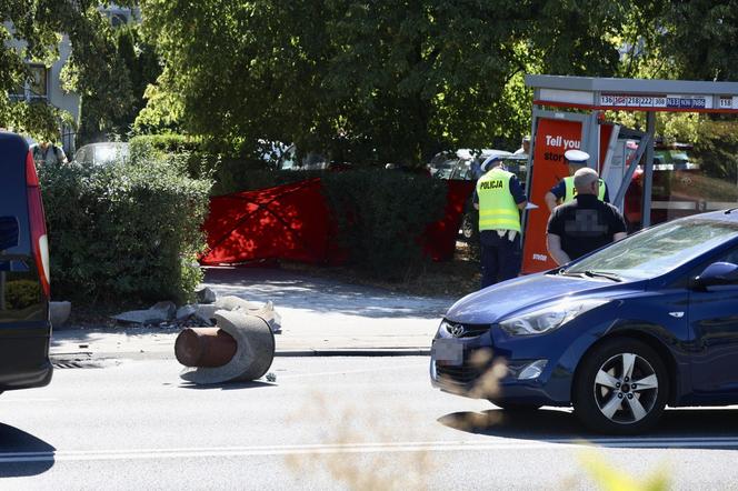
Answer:
<svg viewBox="0 0 738 491"><path fill-rule="evenodd" d="M59 57L61 33L72 54L64 67L64 89L86 101L87 111L106 121L131 103L130 80L121 70L109 22L100 11L108 2L93 0L6 0L0 4L0 90L12 93L30 80L27 62L47 67ZM126 3L126 2L118 2ZM0 97L0 123L36 138L58 137L60 120L69 116L46 103Z"/></svg>

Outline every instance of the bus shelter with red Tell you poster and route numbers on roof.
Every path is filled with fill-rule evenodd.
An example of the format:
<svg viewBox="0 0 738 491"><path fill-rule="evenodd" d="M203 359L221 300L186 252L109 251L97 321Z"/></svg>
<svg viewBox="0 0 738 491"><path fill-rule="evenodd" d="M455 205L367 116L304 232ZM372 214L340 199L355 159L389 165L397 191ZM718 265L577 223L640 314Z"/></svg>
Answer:
<svg viewBox="0 0 738 491"><path fill-rule="evenodd" d="M564 153L589 153L610 201L634 229L702 211L738 207L738 186L710 177L686 148L658 148L659 112L738 113L738 82L526 76L533 89L522 272L556 267L546 248L543 196L568 176ZM646 131L607 121L604 111L644 111Z"/></svg>

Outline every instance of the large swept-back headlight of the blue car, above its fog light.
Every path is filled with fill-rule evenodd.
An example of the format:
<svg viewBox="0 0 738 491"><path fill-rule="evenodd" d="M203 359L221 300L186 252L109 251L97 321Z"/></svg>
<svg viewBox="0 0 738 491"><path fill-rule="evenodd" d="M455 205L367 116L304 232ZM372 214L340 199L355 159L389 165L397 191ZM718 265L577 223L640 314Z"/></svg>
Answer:
<svg viewBox="0 0 738 491"><path fill-rule="evenodd" d="M500 327L512 335L531 335L549 332L569 322L588 310L592 310L604 303L607 299L592 300L567 300L555 305L523 313L501 321Z"/></svg>

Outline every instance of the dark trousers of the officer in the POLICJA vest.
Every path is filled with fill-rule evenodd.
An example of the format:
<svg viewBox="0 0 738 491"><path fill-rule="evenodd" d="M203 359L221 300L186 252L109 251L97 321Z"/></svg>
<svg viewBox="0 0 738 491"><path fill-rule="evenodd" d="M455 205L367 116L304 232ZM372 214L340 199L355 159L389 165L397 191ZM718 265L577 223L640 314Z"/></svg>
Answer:
<svg viewBox="0 0 738 491"><path fill-rule="evenodd" d="M516 278L520 272L520 232L513 240L506 233L500 237L496 230L482 230L479 233L481 248L481 288L499 281Z"/></svg>

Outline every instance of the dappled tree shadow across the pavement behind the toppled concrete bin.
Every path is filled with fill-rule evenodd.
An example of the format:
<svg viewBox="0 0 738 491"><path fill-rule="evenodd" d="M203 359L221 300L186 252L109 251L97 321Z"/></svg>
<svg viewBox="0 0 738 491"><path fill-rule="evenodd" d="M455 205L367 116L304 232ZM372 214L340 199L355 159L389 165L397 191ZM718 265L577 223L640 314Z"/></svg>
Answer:
<svg viewBox="0 0 738 491"><path fill-rule="evenodd" d="M207 268L205 283L219 295L271 300L278 308L368 318L437 319L453 302L266 268Z"/></svg>

